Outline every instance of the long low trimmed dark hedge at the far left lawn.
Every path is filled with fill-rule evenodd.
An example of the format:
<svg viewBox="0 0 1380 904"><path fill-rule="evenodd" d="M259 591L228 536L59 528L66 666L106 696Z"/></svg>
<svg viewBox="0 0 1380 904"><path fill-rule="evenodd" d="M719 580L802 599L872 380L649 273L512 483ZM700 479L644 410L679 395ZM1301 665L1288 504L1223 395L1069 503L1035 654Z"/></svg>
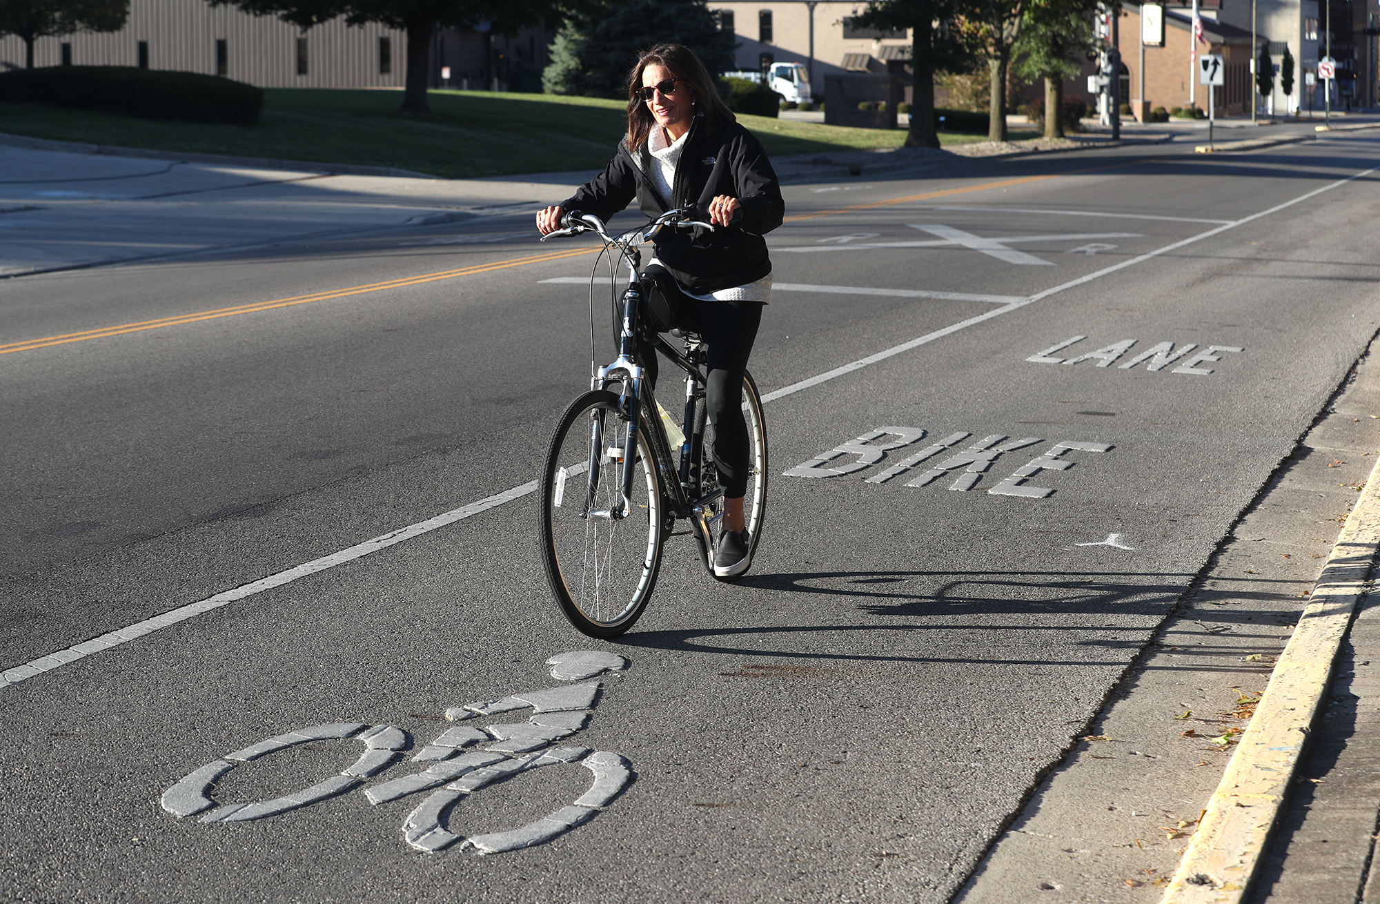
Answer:
<svg viewBox="0 0 1380 904"><path fill-rule="evenodd" d="M46 66L0 72L0 101L110 110L144 119L253 126L264 90L197 72Z"/></svg>

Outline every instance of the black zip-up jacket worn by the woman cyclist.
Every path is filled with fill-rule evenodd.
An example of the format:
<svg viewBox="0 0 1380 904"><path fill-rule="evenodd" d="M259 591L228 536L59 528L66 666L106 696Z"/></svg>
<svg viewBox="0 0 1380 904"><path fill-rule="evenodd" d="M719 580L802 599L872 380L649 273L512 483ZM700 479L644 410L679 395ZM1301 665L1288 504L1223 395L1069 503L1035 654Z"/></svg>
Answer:
<svg viewBox="0 0 1380 904"><path fill-rule="evenodd" d="M636 196L647 217L694 206L702 211L697 218L708 221L709 202L729 195L742 203L730 226L713 232L664 229L656 242L657 259L694 295L745 286L771 272L762 236L781 225L785 202L771 161L752 132L727 123L716 134L705 134L704 116L696 116L676 164L669 207L649 175L653 166L660 164L646 145L629 152L625 139L609 167L560 206L607 222Z"/></svg>

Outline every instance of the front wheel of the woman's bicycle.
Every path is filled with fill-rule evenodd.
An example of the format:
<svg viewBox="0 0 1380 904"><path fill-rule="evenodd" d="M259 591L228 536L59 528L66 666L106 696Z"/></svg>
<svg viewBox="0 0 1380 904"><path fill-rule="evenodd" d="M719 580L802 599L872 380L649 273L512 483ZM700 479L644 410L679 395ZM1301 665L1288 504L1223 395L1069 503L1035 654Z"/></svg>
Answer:
<svg viewBox="0 0 1380 904"><path fill-rule="evenodd" d="M667 501L646 417L638 426L631 512L621 519L588 516L621 507L622 468L609 450L624 449L627 425L615 393L588 392L560 415L542 466L546 580L570 624L591 638L615 638L631 628L661 570ZM575 480L580 476L585 479Z"/></svg>

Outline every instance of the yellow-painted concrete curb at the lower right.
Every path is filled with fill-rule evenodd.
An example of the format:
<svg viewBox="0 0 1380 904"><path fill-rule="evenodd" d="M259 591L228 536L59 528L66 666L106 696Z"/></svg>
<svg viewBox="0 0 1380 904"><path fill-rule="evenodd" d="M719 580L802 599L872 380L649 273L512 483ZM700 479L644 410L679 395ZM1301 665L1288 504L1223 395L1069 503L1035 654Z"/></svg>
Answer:
<svg viewBox="0 0 1380 904"><path fill-rule="evenodd" d="M1380 549L1380 461L1314 584L1161 904L1239 904L1278 823Z"/></svg>

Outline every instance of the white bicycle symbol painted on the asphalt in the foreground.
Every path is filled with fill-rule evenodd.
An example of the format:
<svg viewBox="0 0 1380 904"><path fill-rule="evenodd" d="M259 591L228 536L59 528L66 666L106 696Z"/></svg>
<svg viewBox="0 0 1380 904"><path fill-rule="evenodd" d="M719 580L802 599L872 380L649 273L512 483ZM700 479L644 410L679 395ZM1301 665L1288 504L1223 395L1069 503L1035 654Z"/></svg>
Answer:
<svg viewBox="0 0 1380 904"><path fill-rule="evenodd" d="M546 665L551 667L551 676L558 680L585 682L606 672L621 672L628 668L628 661L611 653L575 650L551 657ZM364 796L377 806L432 791L403 820L403 838L418 850L437 852L458 842L461 849L473 847L480 854L497 854L545 843L592 820L633 780L631 763L618 754L585 747L551 747L585 727L591 711L598 705L602 687L603 682L564 685L451 707L446 711L446 718L465 725L446 729L411 758L414 763L426 763L425 770L371 785L364 789ZM486 725L483 729L468 725L482 716L516 714L522 709L533 711L526 722ZM218 803L211 796L215 784L240 763L309 741L344 738L363 743L364 752L338 776L270 800ZM462 752L477 744L486 747ZM392 725L313 725L265 738L188 773L163 792L161 803L164 810L178 818L203 814L201 823L269 818L359 788L366 778L392 766L410 747L411 736ZM527 825L487 835L464 838L446 827L450 812L468 795L497 781L558 763L580 763L593 773L589 789L569 806Z"/></svg>

